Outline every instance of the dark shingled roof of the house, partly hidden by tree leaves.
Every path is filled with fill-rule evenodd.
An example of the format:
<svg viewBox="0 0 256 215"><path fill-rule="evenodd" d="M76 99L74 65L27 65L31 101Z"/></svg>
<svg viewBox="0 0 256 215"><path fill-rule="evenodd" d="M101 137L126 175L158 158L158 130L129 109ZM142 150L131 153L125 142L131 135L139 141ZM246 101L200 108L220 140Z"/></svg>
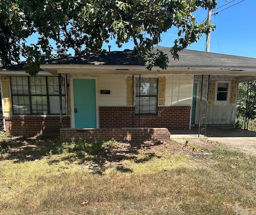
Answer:
<svg viewBox="0 0 256 215"><path fill-rule="evenodd" d="M184 49L179 52L179 60L174 60L170 53L170 47L156 46L154 50L159 49L168 55L169 68L171 67L244 67L256 68L256 58L248 58L226 54L216 54L211 52L202 52ZM153 50L153 51L154 51ZM67 57L61 59L48 60L46 64L51 65L131 65L145 66L146 62L139 62L132 50L113 51L98 53L86 56ZM0 70L24 70L24 64L0 67Z"/></svg>

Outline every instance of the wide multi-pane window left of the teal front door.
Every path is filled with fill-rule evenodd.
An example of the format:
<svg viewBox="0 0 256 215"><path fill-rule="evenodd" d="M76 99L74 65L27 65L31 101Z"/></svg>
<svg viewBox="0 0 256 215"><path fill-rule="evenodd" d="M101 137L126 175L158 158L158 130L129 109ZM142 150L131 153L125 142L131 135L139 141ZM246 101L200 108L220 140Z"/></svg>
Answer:
<svg viewBox="0 0 256 215"><path fill-rule="evenodd" d="M13 114L60 114L66 113L65 84L59 90L56 76L11 76Z"/></svg>

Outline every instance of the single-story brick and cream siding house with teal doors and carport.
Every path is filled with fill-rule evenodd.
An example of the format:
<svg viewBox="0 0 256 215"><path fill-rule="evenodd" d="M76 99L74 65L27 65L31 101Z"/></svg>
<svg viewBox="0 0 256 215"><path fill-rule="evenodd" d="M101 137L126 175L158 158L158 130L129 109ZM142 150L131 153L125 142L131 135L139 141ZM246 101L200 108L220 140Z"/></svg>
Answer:
<svg viewBox="0 0 256 215"><path fill-rule="evenodd" d="M50 60L36 77L22 64L0 67L7 135L160 139L234 124L238 83L256 80L256 58L182 50L173 60L170 48L157 48L167 70L146 70L132 50Z"/></svg>

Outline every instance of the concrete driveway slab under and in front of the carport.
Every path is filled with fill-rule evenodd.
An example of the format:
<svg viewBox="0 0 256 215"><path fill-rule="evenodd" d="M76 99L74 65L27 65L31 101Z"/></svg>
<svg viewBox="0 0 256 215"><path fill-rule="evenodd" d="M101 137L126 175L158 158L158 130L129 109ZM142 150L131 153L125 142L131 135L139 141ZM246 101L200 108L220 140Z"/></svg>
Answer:
<svg viewBox="0 0 256 215"><path fill-rule="evenodd" d="M204 145L205 139L217 141L224 147L256 155L256 132L235 127L207 127L206 137L198 137L198 127L192 127L191 130L172 130L171 139L182 143L186 139L191 139L193 144Z"/></svg>

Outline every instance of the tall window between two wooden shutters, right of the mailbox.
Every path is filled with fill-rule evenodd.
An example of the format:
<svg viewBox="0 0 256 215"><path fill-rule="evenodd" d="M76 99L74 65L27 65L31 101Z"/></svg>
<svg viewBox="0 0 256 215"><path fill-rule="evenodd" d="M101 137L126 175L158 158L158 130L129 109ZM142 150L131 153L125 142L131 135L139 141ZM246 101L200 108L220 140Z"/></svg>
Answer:
<svg viewBox="0 0 256 215"><path fill-rule="evenodd" d="M157 113L158 78L136 78L136 114Z"/></svg>

